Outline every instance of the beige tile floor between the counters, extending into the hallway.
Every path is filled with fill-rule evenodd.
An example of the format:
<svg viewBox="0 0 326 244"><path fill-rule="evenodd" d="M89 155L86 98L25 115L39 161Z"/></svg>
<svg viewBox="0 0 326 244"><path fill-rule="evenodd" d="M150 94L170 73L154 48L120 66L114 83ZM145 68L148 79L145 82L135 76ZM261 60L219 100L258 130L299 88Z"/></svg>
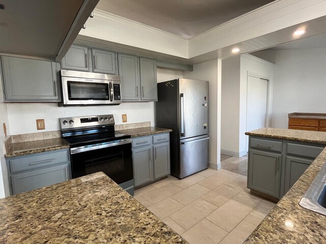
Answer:
<svg viewBox="0 0 326 244"><path fill-rule="evenodd" d="M224 169L169 176L134 198L191 244L242 243L275 206L250 194L242 158L223 156Z"/></svg>

